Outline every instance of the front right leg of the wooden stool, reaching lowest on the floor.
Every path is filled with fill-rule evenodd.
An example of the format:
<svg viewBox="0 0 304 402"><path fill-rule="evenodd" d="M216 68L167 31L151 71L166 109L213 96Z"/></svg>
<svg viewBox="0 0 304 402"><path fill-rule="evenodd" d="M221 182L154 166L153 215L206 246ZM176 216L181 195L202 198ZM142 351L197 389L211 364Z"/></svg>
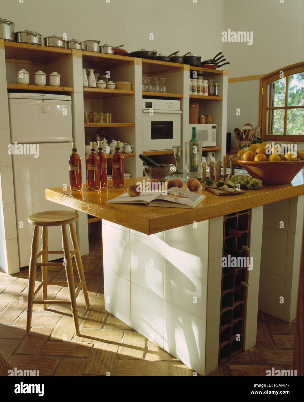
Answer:
<svg viewBox="0 0 304 402"><path fill-rule="evenodd" d="M76 304L76 294L75 294L75 282L73 275L72 258L70 255L70 244L68 240L68 234L66 232L66 226L61 227L62 232L62 248L64 250L64 258L66 260L66 279L68 281L68 288L70 292L70 300L72 305L72 314L74 318L74 326L76 335L79 335L79 322L78 322L78 312Z"/></svg>

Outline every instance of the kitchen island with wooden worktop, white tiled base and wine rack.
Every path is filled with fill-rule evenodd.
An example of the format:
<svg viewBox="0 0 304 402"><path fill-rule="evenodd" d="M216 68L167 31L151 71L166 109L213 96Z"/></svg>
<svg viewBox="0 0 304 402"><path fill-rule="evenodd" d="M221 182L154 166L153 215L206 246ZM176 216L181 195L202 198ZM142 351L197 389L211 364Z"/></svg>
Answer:
<svg viewBox="0 0 304 402"><path fill-rule="evenodd" d="M200 374L255 345L258 308L286 321L295 318L302 171L288 185L243 195L218 197L203 189L206 198L194 209L105 204L142 180L125 180L125 189L112 189L109 182L96 193L87 185L82 192L45 190L46 199L102 219L106 310ZM237 287L235 279L228 289L227 279L237 274L222 269L223 239L233 238L226 222L233 228L244 217L245 255L253 261L244 277L249 287ZM293 259L286 259L287 252Z"/></svg>

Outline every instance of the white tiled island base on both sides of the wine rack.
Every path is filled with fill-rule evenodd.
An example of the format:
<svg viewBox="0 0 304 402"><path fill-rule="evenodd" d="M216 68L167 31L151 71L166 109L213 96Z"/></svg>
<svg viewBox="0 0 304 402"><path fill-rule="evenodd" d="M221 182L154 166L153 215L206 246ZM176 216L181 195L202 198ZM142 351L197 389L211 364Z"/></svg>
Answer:
<svg viewBox="0 0 304 402"><path fill-rule="evenodd" d="M253 208L243 349L255 345L263 206ZM102 220L105 308L199 374L218 367L223 217L146 235Z"/></svg>

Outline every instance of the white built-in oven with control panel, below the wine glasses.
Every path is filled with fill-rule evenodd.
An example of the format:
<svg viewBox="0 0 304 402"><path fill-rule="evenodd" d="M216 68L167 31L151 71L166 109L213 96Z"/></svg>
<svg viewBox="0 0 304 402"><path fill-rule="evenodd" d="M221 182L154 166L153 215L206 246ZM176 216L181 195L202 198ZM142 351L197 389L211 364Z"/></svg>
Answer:
<svg viewBox="0 0 304 402"><path fill-rule="evenodd" d="M181 146L181 101L143 99L143 151L172 150Z"/></svg>

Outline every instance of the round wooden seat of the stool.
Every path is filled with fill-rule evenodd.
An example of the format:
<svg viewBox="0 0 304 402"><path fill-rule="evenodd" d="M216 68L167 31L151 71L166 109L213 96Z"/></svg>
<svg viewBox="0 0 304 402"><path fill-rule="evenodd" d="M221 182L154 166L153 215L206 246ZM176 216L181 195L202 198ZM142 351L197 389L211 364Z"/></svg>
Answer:
<svg viewBox="0 0 304 402"><path fill-rule="evenodd" d="M72 211L44 211L33 213L27 220L35 226L63 226L76 222L79 215Z"/></svg>

